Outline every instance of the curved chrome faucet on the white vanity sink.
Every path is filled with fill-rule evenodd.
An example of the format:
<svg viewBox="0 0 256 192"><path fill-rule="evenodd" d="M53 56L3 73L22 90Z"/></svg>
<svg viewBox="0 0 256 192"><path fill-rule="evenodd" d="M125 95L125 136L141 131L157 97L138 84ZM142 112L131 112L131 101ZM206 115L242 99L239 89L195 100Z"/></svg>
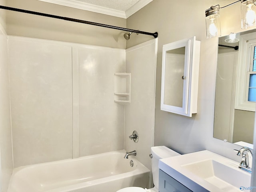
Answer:
<svg viewBox="0 0 256 192"><path fill-rule="evenodd" d="M238 166L238 168L252 174L252 167L251 167L252 166L252 152L251 152L250 148L243 147L240 150L235 150L235 151L237 151L238 156L242 156L242 161L240 162L240 165ZM248 164L246 162L246 154L244 152L247 152L247 154L248 154Z"/></svg>

